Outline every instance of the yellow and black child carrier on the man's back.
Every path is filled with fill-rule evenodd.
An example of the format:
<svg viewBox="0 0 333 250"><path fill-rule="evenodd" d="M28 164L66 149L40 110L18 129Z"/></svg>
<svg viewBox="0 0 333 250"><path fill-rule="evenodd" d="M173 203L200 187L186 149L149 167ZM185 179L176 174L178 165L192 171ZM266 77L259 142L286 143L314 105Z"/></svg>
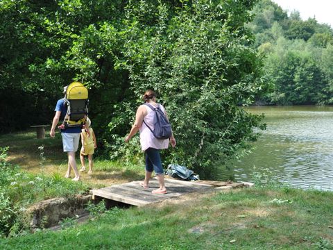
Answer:
<svg viewBox="0 0 333 250"><path fill-rule="evenodd" d="M82 83L74 82L68 85L64 98L67 114L62 124L65 128L82 127L88 115L88 90Z"/></svg>

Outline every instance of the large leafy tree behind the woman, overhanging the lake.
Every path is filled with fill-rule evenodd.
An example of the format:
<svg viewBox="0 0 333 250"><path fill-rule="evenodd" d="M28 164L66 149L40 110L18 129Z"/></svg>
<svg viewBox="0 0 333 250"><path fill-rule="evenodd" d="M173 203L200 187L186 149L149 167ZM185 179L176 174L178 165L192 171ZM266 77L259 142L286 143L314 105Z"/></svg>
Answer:
<svg viewBox="0 0 333 250"><path fill-rule="evenodd" d="M250 20L245 7L234 1L185 1L171 9L140 1L126 14L126 60L119 65L130 72L137 101L123 103L121 114L134 117L139 97L148 88L156 90L178 140L177 153L166 161L187 165L203 177L244 147L259 122L237 106L252 103L264 86L259 58L246 46L251 35L243 26Z"/></svg>

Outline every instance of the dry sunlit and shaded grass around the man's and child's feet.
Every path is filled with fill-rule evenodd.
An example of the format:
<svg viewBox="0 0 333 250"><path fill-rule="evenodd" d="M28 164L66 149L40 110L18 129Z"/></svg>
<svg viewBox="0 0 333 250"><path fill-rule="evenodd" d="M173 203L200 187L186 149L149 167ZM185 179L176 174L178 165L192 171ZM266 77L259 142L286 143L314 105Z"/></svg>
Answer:
<svg viewBox="0 0 333 250"><path fill-rule="evenodd" d="M44 145L42 151L40 147ZM31 174L44 174L49 176L65 176L67 170L67 155L62 152L60 133L56 138L49 137L46 131L45 139L36 139L34 130L21 133L12 133L0 136L0 147L9 147L8 162ZM98 150L95 156L98 156ZM44 160L41 160L43 153ZM140 158L139 160L143 160ZM80 159L76 156L78 168ZM86 159L87 165L87 159ZM74 174L72 174L74 177ZM81 173L81 179L91 188L99 188L106 185L125 183L144 178L142 164L124 163L119 161L94 158L94 171L92 175Z"/></svg>

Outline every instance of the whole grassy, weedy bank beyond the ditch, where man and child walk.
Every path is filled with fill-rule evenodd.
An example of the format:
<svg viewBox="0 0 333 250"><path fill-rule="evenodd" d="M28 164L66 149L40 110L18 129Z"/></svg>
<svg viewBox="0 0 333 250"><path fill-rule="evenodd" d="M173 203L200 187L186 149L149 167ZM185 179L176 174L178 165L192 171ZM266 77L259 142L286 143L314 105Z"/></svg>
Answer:
<svg viewBox="0 0 333 250"><path fill-rule="evenodd" d="M60 134L54 139L35 137L33 131L0 136L0 145L8 145L0 147L0 238L31 233L26 211L39 201L72 199L89 194L93 188L144 178L143 164L135 158L127 163L95 158L92 174L83 172L81 181L71 181L64 178L67 158Z"/></svg>

